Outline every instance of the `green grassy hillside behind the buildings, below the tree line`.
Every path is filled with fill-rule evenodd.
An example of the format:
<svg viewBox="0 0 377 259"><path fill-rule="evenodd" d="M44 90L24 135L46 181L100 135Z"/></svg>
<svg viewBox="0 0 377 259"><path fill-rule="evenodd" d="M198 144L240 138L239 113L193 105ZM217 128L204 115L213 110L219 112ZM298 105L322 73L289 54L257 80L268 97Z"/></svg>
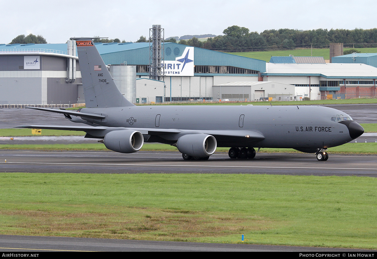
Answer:
<svg viewBox="0 0 377 259"><path fill-rule="evenodd" d="M346 48L345 48L346 49ZM377 48L356 48L362 53L376 53ZM296 57L323 57L325 60L330 59L329 49L313 49L313 55L311 54L311 49L291 49L282 51L251 51L251 52L228 52L229 54L234 54L242 57L249 57L251 59L259 59L269 62L271 56L289 56L293 55Z"/></svg>

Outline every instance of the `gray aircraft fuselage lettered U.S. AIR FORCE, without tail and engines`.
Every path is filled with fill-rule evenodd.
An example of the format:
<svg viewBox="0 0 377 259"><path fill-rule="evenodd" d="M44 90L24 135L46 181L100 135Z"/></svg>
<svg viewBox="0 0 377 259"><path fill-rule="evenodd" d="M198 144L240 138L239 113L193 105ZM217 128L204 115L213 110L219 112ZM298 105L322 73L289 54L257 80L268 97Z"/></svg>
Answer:
<svg viewBox="0 0 377 259"><path fill-rule="evenodd" d="M322 106L127 106L83 108L105 119L85 119L101 126L125 128L180 129L198 131L252 131L262 140L216 137L221 147L317 149L339 146L352 140L347 125L331 120L349 117L337 109ZM109 116L111 114L111 116ZM352 121L353 123L356 123ZM356 123L357 124L357 123ZM360 126L361 127L361 126ZM147 142L170 143L179 134L151 138Z"/></svg>

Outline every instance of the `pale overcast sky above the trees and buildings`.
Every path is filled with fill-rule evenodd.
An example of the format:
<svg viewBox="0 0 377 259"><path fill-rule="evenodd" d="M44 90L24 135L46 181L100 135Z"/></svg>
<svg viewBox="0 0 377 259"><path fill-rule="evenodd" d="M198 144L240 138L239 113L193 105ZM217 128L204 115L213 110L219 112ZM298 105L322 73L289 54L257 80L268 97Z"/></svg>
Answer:
<svg viewBox="0 0 377 259"><path fill-rule="evenodd" d="M70 37L109 37L135 42L160 24L165 38L222 35L232 25L266 29L376 28L376 0L0 0L0 43L20 34L48 43ZM1 48L1 47L0 47Z"/></svg>

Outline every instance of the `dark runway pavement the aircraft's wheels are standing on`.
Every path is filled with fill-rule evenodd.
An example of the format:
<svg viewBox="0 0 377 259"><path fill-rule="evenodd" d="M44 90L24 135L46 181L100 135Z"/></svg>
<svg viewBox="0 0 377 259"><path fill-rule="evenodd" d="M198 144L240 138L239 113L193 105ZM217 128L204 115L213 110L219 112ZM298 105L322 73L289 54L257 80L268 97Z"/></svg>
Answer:
<svg viewBox="0 0 377 259"><path fill-rule="evenodd" d="M6 160L6 162L5 162ZM257 153L251 160L213 154L209 160L183 160L179 152L120 154L112 151L0 152L0 172L26 173L221 173L317 176L377 176L377 156Z"/></svg>

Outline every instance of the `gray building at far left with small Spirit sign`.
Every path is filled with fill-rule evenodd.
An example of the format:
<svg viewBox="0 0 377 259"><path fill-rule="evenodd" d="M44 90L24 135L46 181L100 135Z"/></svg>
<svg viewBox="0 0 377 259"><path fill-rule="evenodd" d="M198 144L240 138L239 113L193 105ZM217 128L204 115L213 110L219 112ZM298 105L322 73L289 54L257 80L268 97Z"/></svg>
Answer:
<svg viewBox="0 0 377 259"><path fill-rule="evenodd" d="M77 103L73 51L67 44L0 44L0 104Z"/></svg>

